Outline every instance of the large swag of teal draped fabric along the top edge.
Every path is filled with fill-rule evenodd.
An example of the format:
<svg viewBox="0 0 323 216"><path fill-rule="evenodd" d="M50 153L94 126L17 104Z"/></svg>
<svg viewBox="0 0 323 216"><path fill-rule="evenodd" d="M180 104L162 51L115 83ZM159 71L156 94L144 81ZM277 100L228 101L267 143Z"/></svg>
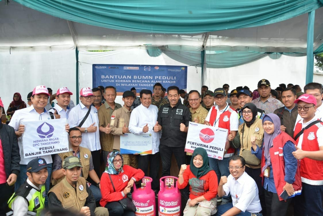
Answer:
<svg viewBox="0 0 323 216"><path fill-rule="evenodd" d="M201 33L263 26L321 7L318 0L15 0L79 23L137 32Z"/></svg>

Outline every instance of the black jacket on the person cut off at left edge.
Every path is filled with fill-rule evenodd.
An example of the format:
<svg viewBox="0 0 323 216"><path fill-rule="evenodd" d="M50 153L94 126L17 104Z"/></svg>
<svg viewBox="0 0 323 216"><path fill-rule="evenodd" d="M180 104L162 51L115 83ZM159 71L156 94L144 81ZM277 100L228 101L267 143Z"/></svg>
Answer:
<svg viewBox="0 0 323 216"><path fill-rule="evenodd" d="M7 178L11 173L18 176L20 171L20 153L15 129L0 122L0 139L5 159L5 174Z"/></svg>

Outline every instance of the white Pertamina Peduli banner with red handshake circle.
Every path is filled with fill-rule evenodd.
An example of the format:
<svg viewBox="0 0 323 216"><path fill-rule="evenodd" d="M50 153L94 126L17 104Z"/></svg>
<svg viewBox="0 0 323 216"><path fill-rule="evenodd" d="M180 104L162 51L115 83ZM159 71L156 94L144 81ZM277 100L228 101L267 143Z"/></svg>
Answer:
<svg viewBox="0 0 323 216"><path fill-rule="evenodd" d="M206 150L207 155L222 160L228 130L190 121L185 152L193 153L197 147Z"/></svg>

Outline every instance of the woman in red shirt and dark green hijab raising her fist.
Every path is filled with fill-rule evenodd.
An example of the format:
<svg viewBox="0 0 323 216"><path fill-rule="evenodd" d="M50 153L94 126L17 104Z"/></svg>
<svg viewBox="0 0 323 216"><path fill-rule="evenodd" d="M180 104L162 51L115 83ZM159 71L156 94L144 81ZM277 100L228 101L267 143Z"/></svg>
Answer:
<svg viewBox="0 0 323 216"><path fill-rule="evenodd" d="M215 214L218 180L203 148L194 150L190 165L181 166L178 188L183 189L187 184L190 185L190 199L187 200L184 215Z"/></svg>

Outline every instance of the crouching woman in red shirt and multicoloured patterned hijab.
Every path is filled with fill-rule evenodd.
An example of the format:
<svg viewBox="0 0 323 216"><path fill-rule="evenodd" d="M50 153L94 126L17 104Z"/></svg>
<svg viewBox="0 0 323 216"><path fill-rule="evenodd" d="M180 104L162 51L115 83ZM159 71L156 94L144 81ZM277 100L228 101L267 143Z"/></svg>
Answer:
<svg viewBox="0 0 323 216"><path fill-rule="evenodd" d="M135 215L135 212L123 210L118 201L126 198L133 184L144 175L141 169L123 165L123 157L119 151L108 154L108 163L100 179L102 194L100 205L109 210L110 216Z"/></svg>

